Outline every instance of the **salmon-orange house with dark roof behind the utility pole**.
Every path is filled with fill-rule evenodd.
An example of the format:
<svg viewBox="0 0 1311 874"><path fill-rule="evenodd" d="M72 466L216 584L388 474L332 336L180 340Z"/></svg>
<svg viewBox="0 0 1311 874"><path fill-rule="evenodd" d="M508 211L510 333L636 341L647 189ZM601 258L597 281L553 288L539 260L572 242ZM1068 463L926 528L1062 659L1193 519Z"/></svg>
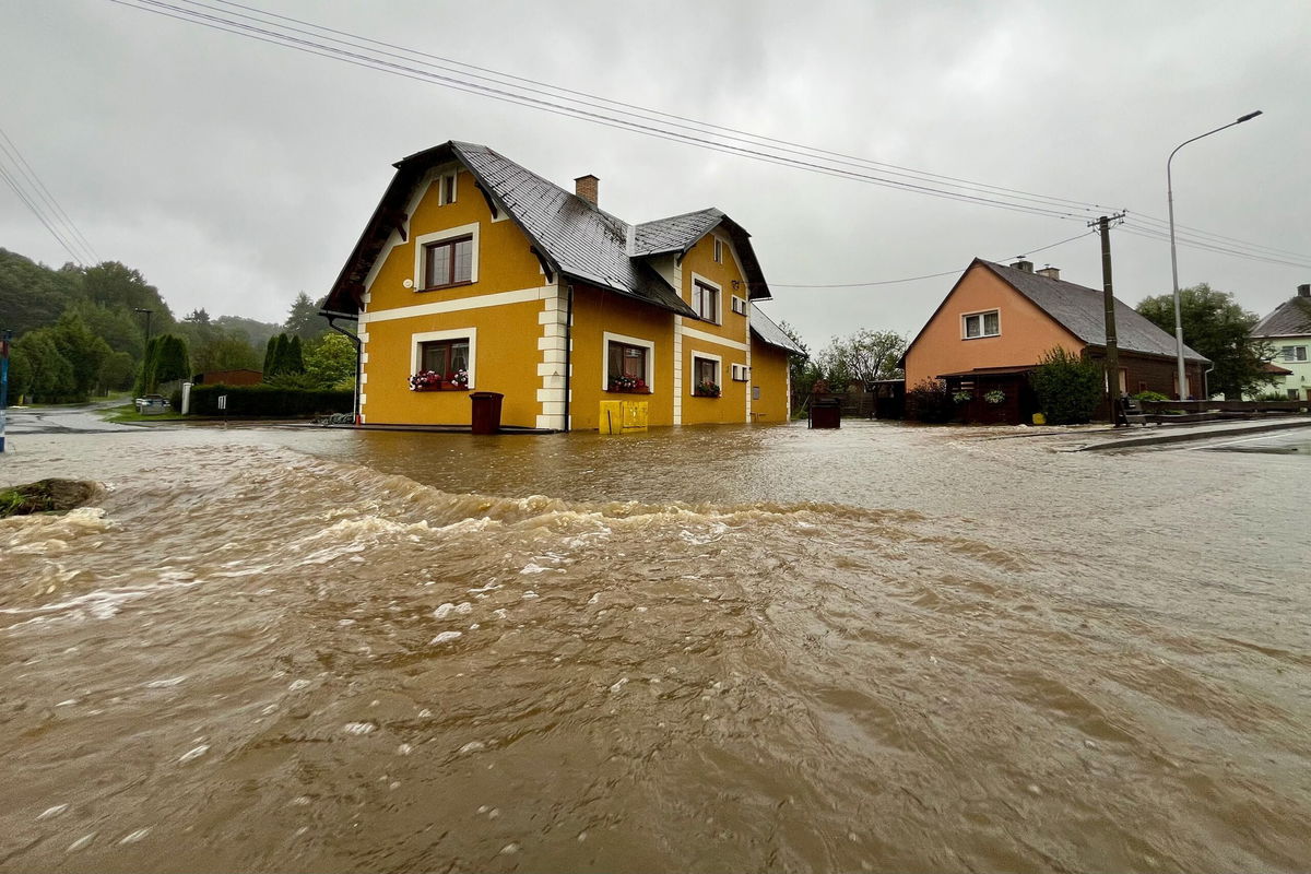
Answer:
<svg viewBox="0 0 1311 874"><path fill-rule="evenodd" d="M966 419L1027 422L1037 409L1028 375L1042 356L1061 347L1104 362L1105 337L1100 290L1065 282L1055 267L1034 271L1029 261L1004 266L975 258L906 349L906 385L944 380L948 390L970 396ZM1121 393L1176 396L1175 338L1121 300L1116 346ZM1184 362L1186 394L1201 397L1210 362L1186 346Z"/></svg>

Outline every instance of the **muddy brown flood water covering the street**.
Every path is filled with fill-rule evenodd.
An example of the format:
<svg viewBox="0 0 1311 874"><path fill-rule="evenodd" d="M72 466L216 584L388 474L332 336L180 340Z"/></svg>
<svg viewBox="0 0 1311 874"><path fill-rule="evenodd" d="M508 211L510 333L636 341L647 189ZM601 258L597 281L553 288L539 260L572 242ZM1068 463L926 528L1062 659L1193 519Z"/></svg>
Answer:
<svg viewBox="0 0 1311 874"><path fill-rule="evenodd" d="M1015 434L12 440L0 870L1306 870L1311 464Z"/></svg>

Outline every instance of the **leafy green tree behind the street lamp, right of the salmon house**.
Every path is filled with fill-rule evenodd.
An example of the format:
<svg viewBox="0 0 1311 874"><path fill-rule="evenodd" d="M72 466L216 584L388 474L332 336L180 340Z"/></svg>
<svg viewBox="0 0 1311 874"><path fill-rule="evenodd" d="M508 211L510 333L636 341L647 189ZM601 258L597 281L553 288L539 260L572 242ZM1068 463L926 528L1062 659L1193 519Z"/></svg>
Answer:
<svg viewBox="0 0 1311 874"><path fill-rule="evenodd" d="M1168 334L1175 333L1175 297L1158 295L1138 304L1138 312ZM1226 398L1256 394L1274 381L1265 363L1274 355L1269 343L1255 339L1252 328L1260 318L1234 300L1234 295L1202 283L1180 291L1180 320L1184 342L1211 359L1211 392Z"/></svg>

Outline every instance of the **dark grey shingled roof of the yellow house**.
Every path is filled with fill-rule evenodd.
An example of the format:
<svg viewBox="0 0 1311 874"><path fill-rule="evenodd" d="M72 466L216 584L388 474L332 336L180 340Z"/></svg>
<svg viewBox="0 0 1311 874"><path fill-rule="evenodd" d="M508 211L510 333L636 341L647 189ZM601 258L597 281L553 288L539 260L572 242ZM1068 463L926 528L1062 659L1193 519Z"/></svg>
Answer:
<svg viewBox="0 0 1311 874"><path fill-rule="evenodd" d="M718 210L631 225L486 145L451 140L410 155L395 165L396 176L328 295L328 309L358 311L364 278L382 256L392 231L408 219L404 211L414 186L429 169L451 160L468 168L488 206L493 212L505 212L514 220L544 266L564 276L678 314L695 316L678 290L648 263L648 258L669 253L682 257L697 240L722 224L742 257L750 297L770 297L750 235ZM633 241L632 249L629 240Z"/></svg>

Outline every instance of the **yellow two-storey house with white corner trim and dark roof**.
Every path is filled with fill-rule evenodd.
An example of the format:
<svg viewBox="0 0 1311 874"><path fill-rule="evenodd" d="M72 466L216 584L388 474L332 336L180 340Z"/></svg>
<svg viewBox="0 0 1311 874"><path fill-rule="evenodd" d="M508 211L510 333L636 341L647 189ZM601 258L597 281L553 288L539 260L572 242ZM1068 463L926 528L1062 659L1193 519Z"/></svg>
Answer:
<svg viewBox="0 0 1311 874"><path fill-rule="evenodd" d="M597 428L602 401L650 425L784 422L788 355L750 235L718 210L628 224L485 145L396 165L325 309L357 318L361 421Z"/></svg>

